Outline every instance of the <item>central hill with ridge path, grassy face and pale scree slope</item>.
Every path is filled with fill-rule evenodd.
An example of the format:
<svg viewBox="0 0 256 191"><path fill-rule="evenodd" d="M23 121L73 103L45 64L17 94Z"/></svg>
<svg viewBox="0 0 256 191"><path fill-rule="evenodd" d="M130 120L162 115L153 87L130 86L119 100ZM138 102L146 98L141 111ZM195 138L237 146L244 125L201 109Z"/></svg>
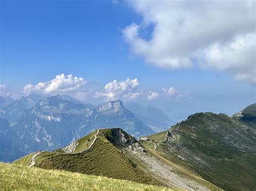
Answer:
<svg viewBox="0 0 256 191"><path fill-rule="evenodd" d="M165 137L164 134L166 132L159 139ZM93 142L96 135L97 139ZM83 151L89 143L93 145ZM14 161L14 164L29 166L30 163L25 162L28 158L31 155ZM55 152L42 152L36 156L34 167L103 175L171 188L219 189L192 171L183 171L168 160L153 157L150 150L121 129L95 131Z"/></svg>

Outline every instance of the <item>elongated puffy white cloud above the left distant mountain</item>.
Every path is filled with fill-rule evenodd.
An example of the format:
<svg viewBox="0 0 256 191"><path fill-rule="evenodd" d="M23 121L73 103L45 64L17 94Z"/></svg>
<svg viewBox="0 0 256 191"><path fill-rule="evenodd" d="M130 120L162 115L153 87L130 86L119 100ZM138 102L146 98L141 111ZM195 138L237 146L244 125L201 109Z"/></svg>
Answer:
<svg viewBox="0 0 256 191"><path fill-rule="evenodd" d="M66 94L69 92L78 91L83 88L86 81L82 77L73 76L72 74L56 75L55 79L48 82L39 82L35 85L29 83L23 87L23 93L29 95L34 94Z"/></svg>

